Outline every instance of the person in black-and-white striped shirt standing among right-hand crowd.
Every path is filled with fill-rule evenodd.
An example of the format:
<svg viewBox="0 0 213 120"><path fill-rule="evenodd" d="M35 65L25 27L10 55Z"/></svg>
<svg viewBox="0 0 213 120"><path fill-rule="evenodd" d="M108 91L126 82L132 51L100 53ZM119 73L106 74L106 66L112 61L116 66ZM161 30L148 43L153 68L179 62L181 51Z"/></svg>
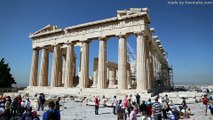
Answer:
<svg viewBox="0 0 213 120"><path fill-rule="evenodd" d="M162 120L161 117L161 104L158 102L158 97L155 98L155 102L152 105L153 108L153 115L154 115L154 120Z"/></svg>

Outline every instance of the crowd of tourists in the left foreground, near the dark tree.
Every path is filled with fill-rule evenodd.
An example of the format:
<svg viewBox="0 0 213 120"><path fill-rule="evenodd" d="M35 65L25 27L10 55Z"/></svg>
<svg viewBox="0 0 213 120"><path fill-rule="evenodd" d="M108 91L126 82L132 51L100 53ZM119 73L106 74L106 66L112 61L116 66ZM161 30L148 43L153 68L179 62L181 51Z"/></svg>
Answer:
<svg viewBox="0 0 213 120"><path fill-rule="evenodd" d="M37 97L37 95L35 96ZM45 95L40 93L37 97L37 111L44 110ZM42 115L43 120L60 120L60 97L56 102L48 103L49 109ZM0 96L0 120L40 120L37 111L32 111L31 101L27 97L23 100L21 95L11 98Z"/></svg>

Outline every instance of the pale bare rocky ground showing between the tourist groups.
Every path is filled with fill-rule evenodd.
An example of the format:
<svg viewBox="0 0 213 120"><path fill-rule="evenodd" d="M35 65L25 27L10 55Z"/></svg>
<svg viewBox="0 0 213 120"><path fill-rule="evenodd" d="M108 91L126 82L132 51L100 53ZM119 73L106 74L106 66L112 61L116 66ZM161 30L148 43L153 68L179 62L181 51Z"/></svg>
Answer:
<svg viewBox="0 0 213 120"><path fill-rule="evenodd" d="M193 116L188 120L211 120L213 116L208 111L207 116L202 110L202 103L188 104L191 108ZM65 107L65 108L64 108ZM47 107L45 108L47 110ZM39 111L38 114L42 115L44 111ZM62 120L116 120L117 116L113 115L112 108L110 107L100 107L99 115L95 115L94 106L86 106L82 102L75 102L69 100L62 104L61 110L61 119ZM138 115L138 119L141 119L141 116Z"/></svg>

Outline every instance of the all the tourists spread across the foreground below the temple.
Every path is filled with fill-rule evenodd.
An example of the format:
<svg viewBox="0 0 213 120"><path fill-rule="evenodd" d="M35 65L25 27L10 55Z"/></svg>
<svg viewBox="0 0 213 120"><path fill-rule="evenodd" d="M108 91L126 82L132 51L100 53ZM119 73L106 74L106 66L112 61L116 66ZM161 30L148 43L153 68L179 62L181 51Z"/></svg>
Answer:
<svg viewBox="0 0 213 120"><path fill-rule="evenodd" d="M38 101L37 111L44 111L46 102L45 95L40 93L35 96ZM101 98L106 101L105 96ZM98 115L100 98L95 96L95 114ZM142 120L178 120L190 118L192 115L191 109L188 107L185 98L178 107L172 104L168 95L164 97L157 96L154 101L148 99L142 100L139 94L126 95L123 100L113 97L112 106L113 114L118 120L137 120L140 117ZM207 115L207 110L213 115L213 100L212 97L204 95L202 99L203 110ZM43 120L60 120L60 97L55 102L48 102L48 110L42 115ZM0 120L40 120L37 111L32 111L31 101L27 97L22 99L19 95L15 98L10 96L0 96Z"/></svg>

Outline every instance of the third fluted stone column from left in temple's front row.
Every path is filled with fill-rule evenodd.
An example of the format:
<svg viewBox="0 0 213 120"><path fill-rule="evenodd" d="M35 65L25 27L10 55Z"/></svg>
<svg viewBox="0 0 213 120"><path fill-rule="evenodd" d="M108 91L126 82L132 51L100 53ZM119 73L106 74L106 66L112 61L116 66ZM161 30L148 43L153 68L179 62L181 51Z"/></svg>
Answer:
<svg viewBox="0 0 213 120"><path fill-rule="evenodd" d="M55 45L54 49L53 49L51 87L57 86L57 81L58 81L58 76L59 76L59 74L58 74L58 72L59 72L59 58L60 58L59 50L60 50L60 47L58 45Z"/></svg>

